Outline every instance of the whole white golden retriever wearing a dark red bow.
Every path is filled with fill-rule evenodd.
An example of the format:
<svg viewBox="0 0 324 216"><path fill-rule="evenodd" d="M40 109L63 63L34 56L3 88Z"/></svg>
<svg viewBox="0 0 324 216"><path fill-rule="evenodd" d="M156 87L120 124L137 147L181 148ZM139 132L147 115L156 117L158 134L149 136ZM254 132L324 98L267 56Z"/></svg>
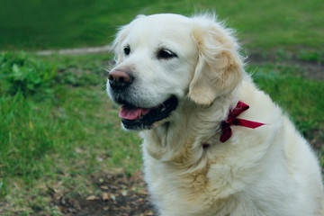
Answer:
<svg viewBox="0 0 324 216"><path fill-rule="evenodd" d="M314 153L247 75L231 30L212 15L140 15L112 46L107 93L140 130L160 215L324 215Z"/></svg>

